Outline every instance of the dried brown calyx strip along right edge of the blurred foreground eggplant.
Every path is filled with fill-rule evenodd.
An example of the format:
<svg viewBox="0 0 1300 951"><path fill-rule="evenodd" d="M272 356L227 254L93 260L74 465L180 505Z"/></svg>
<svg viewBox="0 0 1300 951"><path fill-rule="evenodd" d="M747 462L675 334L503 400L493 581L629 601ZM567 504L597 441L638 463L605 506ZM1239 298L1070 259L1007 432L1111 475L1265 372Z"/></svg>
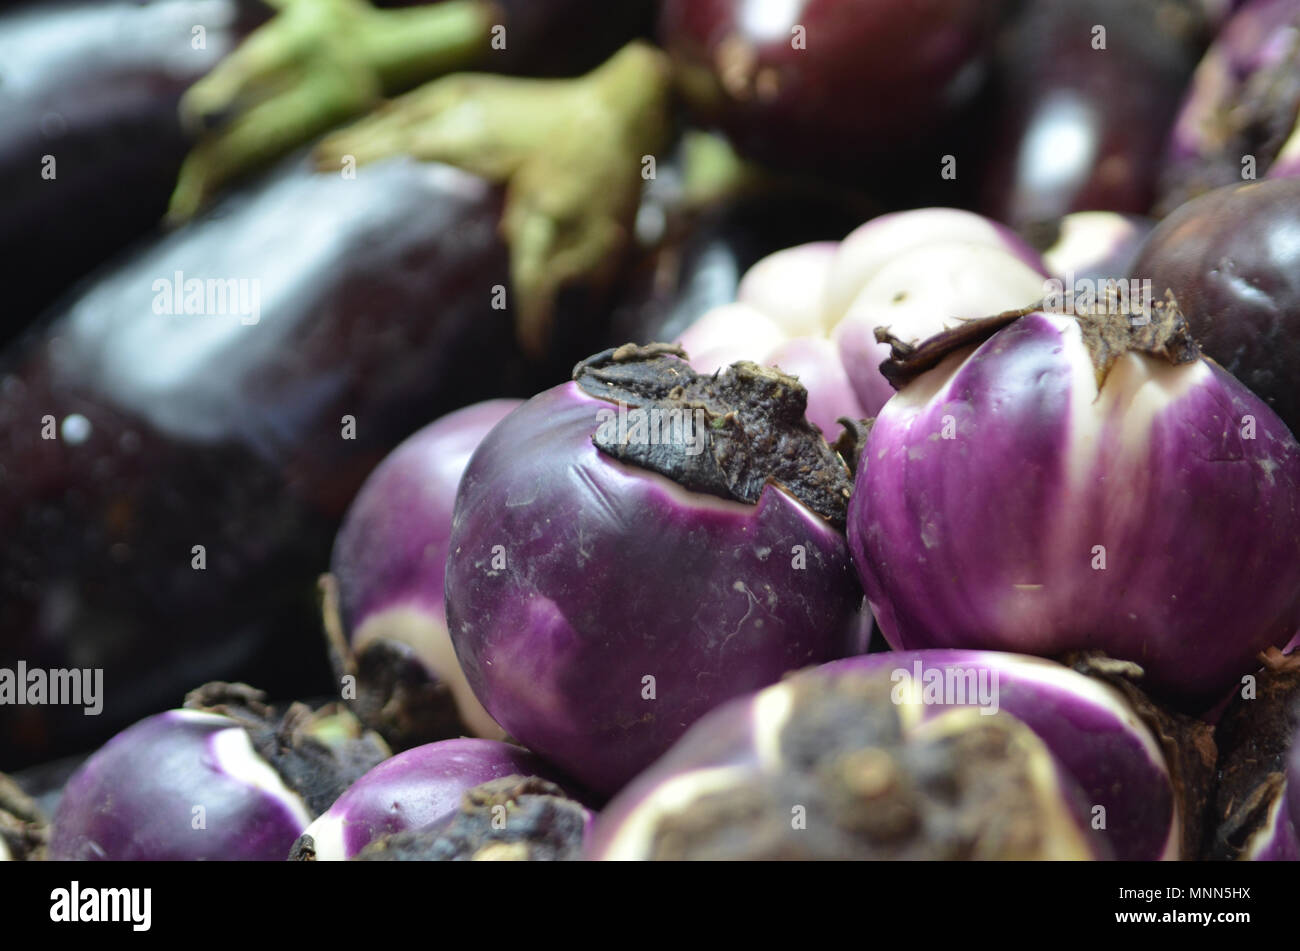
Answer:
<svg viewBox="0 0 1300 951"><path fill-rule="evenodd" d="M1150 699L1141 687L1145 672L1132 661L1115 660L1100 651L1078 651L1060 660L1076 673L1118 690L1150 730L1169 768L1182 821L1179 855L1184 859L1199 856L1206 830L1213 825L1210 805L1214 799L1214 763L1218 759L1214 728Z"/></svg>

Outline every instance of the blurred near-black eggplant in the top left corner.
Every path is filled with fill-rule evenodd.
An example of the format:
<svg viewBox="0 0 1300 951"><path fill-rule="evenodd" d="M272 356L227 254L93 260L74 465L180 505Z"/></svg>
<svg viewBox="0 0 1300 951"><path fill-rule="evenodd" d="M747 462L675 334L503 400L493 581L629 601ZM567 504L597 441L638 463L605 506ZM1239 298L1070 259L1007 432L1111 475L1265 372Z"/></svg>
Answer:
<svg viewBox="0 0 1300 951"><path fill-rule="evenodd" d="M256 0L110 0L0 16L0 261L14 278L0 340L157 225L191 144L181 94L268 13Z"/></svg>

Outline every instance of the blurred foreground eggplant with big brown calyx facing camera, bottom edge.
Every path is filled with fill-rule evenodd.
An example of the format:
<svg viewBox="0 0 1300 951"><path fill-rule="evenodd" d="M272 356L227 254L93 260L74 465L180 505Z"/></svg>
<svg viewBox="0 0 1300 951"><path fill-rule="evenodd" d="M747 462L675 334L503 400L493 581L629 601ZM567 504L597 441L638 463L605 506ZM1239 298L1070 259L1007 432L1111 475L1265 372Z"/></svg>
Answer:
<svg viewBox="0 0 1300 951"><path fill-rule="evenodd" d="M932 676L970 695L932 702ZM1175 813L1115 690L1036 657L916 651L715 711L615 796L588 855L1156 859L1178 852Z"/></svg>

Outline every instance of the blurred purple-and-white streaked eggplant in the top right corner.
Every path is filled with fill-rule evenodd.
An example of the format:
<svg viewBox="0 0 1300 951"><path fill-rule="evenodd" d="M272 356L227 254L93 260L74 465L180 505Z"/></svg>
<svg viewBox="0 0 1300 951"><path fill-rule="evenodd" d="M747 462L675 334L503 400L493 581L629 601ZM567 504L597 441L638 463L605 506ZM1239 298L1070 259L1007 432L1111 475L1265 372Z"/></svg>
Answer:
<svg viewBox="0 0 1300 951"><path fill-rule="evenodd" d="M1295 175L1300 3L1253 0L1205 53L1170 135L1161 209L1242 179Z"/></svg>

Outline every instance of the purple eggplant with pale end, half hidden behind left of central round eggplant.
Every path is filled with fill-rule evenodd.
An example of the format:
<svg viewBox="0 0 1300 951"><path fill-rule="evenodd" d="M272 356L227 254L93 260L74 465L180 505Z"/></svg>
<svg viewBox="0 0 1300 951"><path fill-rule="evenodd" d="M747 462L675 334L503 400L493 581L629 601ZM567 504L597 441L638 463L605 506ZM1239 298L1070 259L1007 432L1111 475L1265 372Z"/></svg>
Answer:
<svg viewBox="0 0 1300 951"><path fill-rule="evenodd" d="M359 715L400 747L463 731L502 738L447 635L443 578L456 487L469 456L520 400L448 413L380 464L334 542L335 673L356 677Z"/></svg>

